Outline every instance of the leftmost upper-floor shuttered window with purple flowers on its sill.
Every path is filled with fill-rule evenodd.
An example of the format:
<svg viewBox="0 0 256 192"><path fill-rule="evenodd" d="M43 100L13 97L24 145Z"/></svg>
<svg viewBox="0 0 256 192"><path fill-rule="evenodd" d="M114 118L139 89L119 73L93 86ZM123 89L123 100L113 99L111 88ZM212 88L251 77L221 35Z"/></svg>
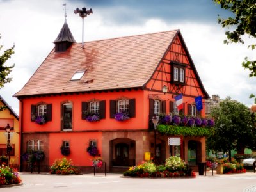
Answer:
<svg viewBox="0 0 256 192"><path fill-rule="evenodd" d="M40 102L31 105L31 122L45 124L52 120L52 104Z"/></svg>

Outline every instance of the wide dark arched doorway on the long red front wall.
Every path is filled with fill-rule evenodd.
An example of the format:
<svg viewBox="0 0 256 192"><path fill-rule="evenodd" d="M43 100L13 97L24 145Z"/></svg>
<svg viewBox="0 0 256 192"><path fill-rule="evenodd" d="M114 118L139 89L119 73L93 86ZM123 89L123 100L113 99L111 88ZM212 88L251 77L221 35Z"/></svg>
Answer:
<svg viewBox="0 0 256 192"><path fill-rule="evenodd" d="M110 141L111 166L135 166L135 141L117 138Z"/></svg>

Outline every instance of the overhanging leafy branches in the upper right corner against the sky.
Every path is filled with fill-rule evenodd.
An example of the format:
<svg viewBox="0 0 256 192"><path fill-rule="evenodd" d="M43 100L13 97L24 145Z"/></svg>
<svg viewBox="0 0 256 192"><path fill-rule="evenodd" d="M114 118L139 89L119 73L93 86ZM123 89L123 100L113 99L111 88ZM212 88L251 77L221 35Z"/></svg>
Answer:
<svg viewBox="0 0 256 192"><path fill-rule="evenodd" d="M224 40L225 44L230 42L244 44L243 36L249 35L256 37L256 3L253 0L213 0L215 3L220 4L221 8L230 10L233 17L223 19L218 17L219 24L223 28L232 29L226 31L227 39ZM219 16L219 15L218 15ZM255 49L256 44L248 46L248 49ZM250 60L248 57L244 58L242 63L244 68L250 70L249 77L256 77L256 61ZM250 98L255 97L251 94ZM255 97L256 103L256 97Z"/></svg>

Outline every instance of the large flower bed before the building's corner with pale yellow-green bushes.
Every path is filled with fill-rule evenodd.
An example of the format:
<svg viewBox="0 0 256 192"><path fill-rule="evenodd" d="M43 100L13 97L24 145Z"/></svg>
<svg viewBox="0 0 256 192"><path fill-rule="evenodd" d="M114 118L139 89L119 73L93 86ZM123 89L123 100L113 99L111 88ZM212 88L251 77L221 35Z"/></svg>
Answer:
<svg viewBox="0 0 256 192"><path fill-rule="evenodd" d="M147 161L138 166L132 166L123 173L130 177L196 177L195 172L180 158L171 156L164 165L156 165Z"/></svg>

